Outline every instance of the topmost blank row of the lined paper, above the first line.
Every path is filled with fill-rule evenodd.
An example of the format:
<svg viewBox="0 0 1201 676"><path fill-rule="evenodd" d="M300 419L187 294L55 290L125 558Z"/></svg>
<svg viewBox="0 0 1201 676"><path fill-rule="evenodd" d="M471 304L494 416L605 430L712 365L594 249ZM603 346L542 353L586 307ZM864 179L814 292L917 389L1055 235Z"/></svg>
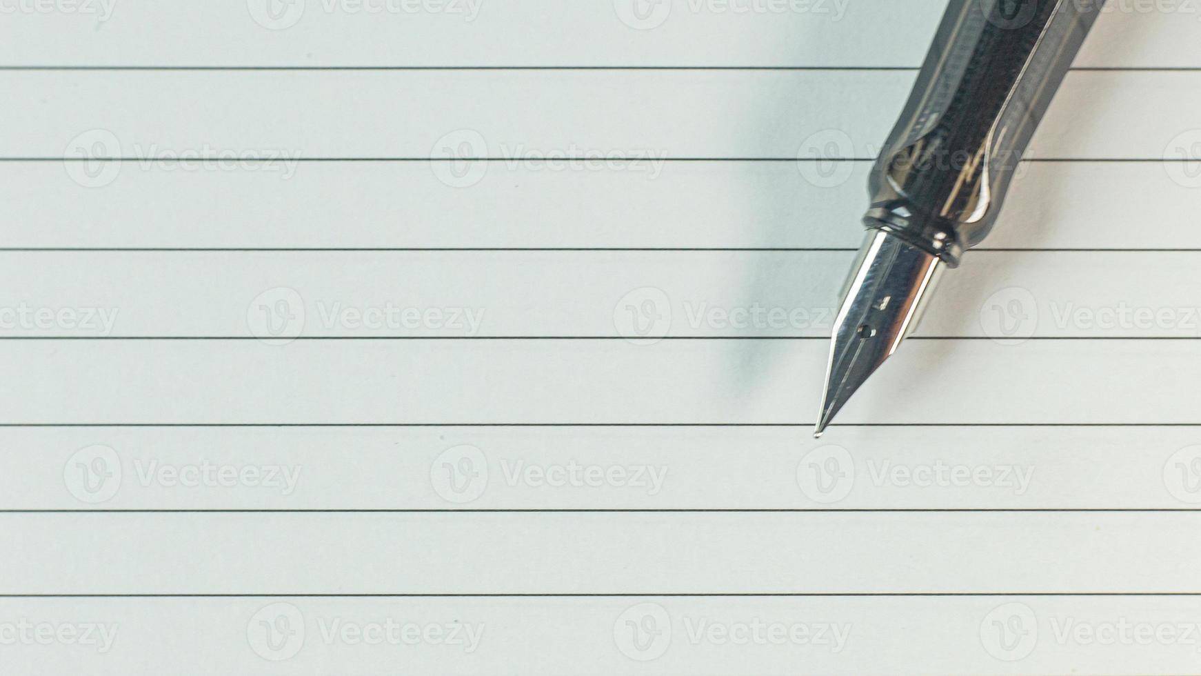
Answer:
<svg viewBox="0 0 1201 676"><path fill-rule="evenodd" d="M115 6L109 0L107 11L96 0L71 14L18 13L0 34L4 60L141 67L918 67L945 7L882 0L693 1L650 12L635 12L641 8L627 0L573 6L554 0L520 6L482 0L211 5ZM783 11L773 8L781 6ZM739 7L749 11L736 12ZM1201 50L1190 24L1199 14L1184 0L1112 4L1080 65L1195 67ZM145 40L148 35L155 40ZM889 40L894 35L906 38Z"/></svg>

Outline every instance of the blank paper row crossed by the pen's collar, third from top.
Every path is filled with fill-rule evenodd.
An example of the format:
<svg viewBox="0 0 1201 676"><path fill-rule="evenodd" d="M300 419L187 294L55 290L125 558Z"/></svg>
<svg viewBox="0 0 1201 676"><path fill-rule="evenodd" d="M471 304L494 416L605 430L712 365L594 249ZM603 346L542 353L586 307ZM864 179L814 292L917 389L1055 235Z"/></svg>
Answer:
<svg viewBox="0 0 1201 676"><path fill-rule="evenodd" d="M13 161L0 162L0 195L11 204L0 232L35 249L849 250L861 239L855 223L871 164L830 163L833 180L818 180L813 164L796 162L664 162L657 175L650 166L544 172L492 162L462 190L429 162L311 162L288 180L282 167L185 173L123 162L104 190L92 190L60 162ZM1026 164L980 249L1201 249L1194 168ZM143 217L129 217L131 201ZM205 208L180 208L189 204ZM605 208L581 208L597 204ZM1129 227L1142 221L1155 227Z"/></svg>

